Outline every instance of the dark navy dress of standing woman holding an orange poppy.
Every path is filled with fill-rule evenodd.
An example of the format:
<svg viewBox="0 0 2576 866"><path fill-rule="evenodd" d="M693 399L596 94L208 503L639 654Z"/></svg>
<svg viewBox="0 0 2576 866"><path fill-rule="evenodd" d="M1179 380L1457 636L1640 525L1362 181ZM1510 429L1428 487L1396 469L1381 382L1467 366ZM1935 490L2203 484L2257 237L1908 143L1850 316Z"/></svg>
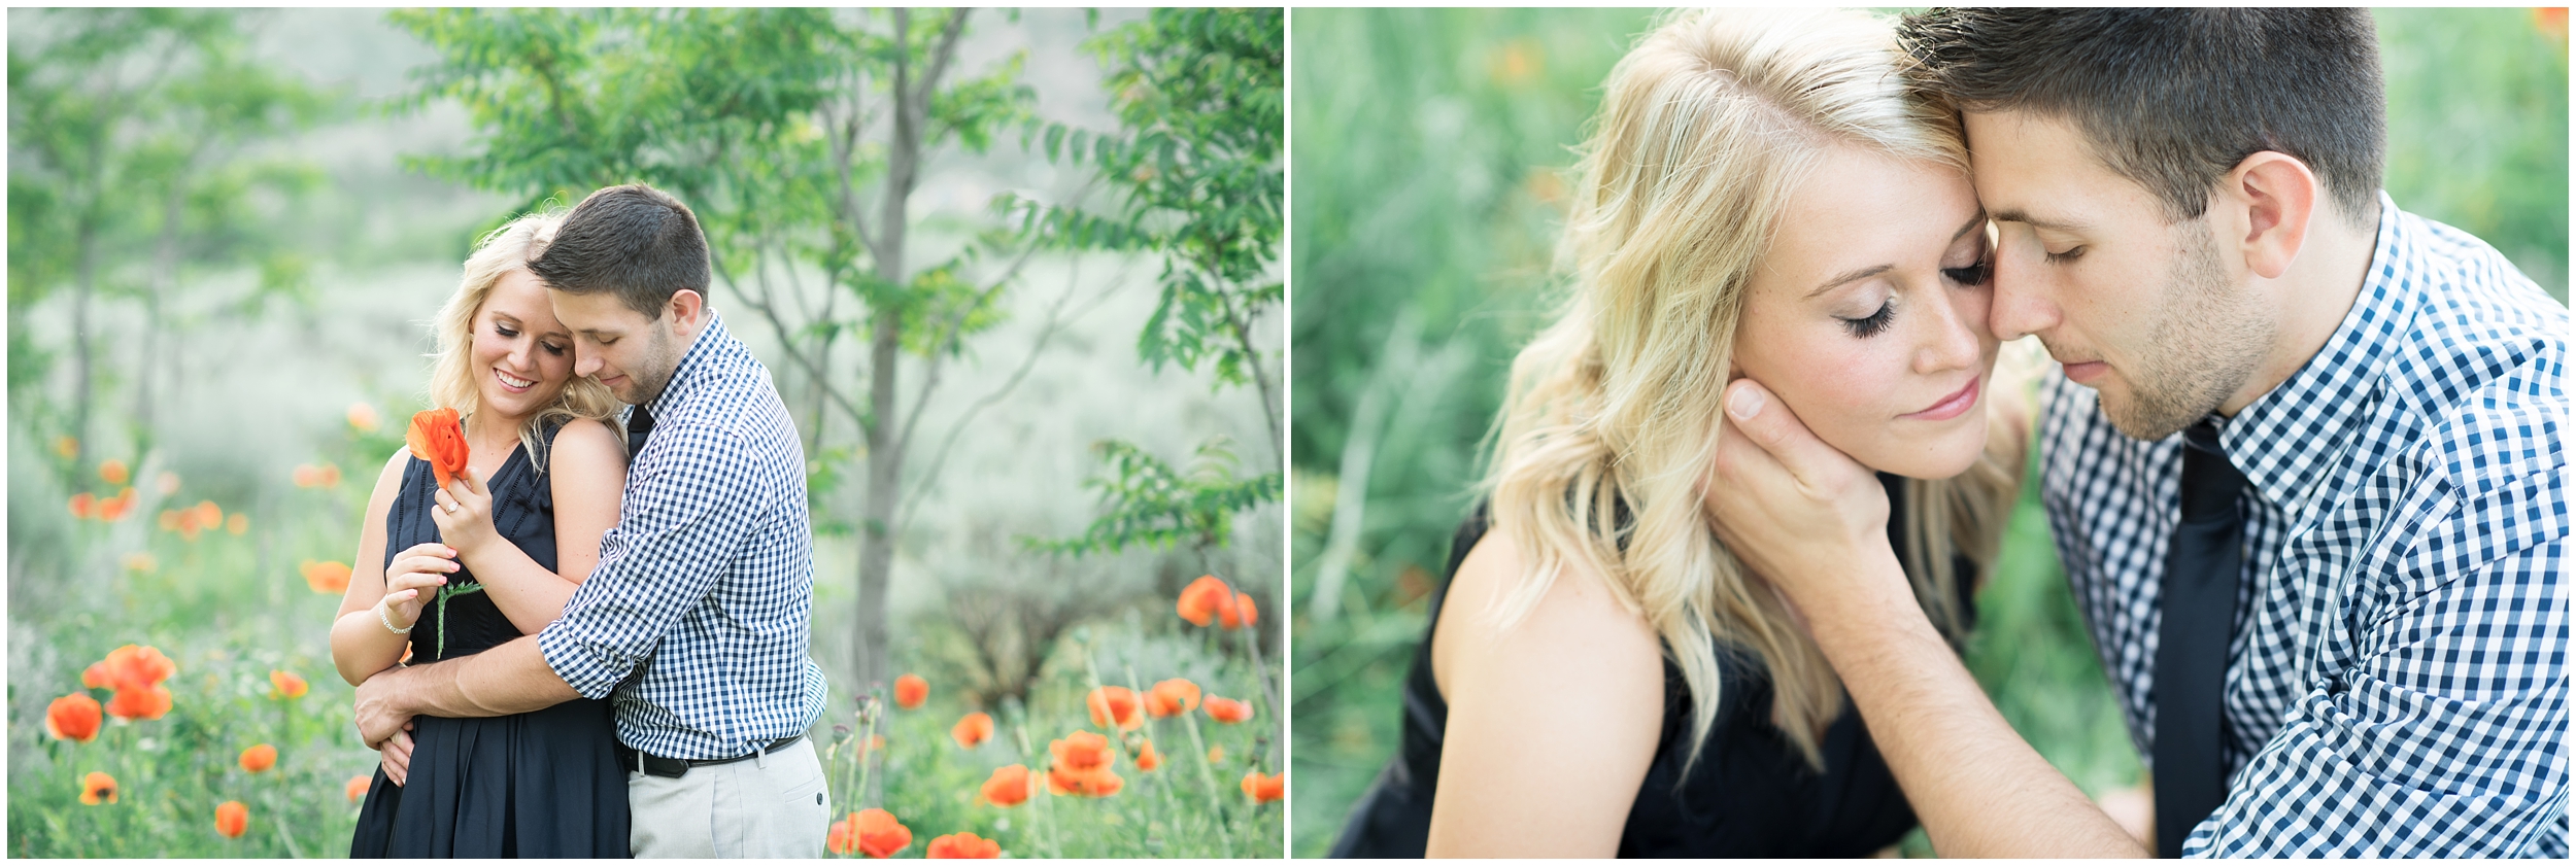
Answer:
<svg viewBox="0 0 2576 866"><path fill-rule="evenodd" d="M546 430L546 443L554 433ZM402 492L384 515L384 554L438 541L430 521L438 479L412 459ZM554 487L526 448L489 479L492 528L554 570ZM477 588L471 570L448 575L448 588ZM433 595L435 598L435 595ZM440 619L446 647L440 650ZM518 639L518 626L492 606L489 593L430 603L412 626L412 662L451 660ZM574 698L549 709L497 719L412 722L412 768L402 786L376 778L358 812L353 858L623 858L626 771L618 765L608 701Z"/></svg>

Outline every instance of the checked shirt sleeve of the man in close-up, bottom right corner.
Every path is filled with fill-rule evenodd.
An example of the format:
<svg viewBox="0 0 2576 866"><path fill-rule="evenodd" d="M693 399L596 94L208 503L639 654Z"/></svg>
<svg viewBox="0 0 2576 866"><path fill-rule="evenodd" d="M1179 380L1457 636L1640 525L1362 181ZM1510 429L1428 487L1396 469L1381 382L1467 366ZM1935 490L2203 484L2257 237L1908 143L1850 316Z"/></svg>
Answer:
<svg viewBox="0 0 2576 866"><path fill-rule="evenodd" d="M2362 557L2383 588L2306 616L2352 642L2236 773L2184 856L2519 858L2566 851L2566 644L2558 477L2455 492L2409 549ZM2347 652L2347 660L2334 660Z"/></svg>

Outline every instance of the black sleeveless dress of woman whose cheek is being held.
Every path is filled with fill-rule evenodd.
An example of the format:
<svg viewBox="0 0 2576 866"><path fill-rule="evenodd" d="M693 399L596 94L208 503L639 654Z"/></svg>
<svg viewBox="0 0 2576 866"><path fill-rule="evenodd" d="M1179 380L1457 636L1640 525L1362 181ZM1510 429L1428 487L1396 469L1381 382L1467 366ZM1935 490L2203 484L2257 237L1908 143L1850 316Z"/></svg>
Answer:
<svg viewBox="0 0 2576 866"><path fill-rule="evenodd" d="M1901 479L1888 474L1878 479L1888 490L1888 513L1904 515ZM1904 549L1896 536L1904 523L1888 521L1888 541ZM1458 526L1445 577L1458 575L1458 562L1484 531L1486 515L1479 505ZM1968 619L1976 611L1968 598L1973 564L1958 559L1955 575L1960 575L1960 613ZM1440 737L1448 729L1448 701L1432 680L1432 629L1440 624L1445 595L1448 580L1432 595L1430 626L1414 650L1414 670L1404 678L1401 747L1352 807L1342 838L1332 845L1337 858L1419 858L1430 838ZM1816 773L1770 724L1772 686L1759 665L1721 644L1718 678L1726 683L1718 691L1718 722L1708 729L1700 763L1682 776L1690 760L1690 688L1682 683L1682 670L1664 660L1664 735L1654 745L1654 763L1636 804L1628 807L1618 856L1855 858L1888 848L1914 830L1914 809L1896 789L1896 776L1888 773L1857 711L1844 711L1826 727L1819 742L1824 773ZM1680 789L1674 778L1682 778Z"/></svg>

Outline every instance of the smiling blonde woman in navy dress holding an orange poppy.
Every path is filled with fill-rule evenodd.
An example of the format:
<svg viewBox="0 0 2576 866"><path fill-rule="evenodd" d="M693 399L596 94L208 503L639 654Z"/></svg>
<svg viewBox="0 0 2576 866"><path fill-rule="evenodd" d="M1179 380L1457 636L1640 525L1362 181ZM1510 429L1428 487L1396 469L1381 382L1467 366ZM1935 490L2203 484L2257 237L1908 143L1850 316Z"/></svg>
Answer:
<svg viewBox="0 0 2576 866"><path fill-rule="evenodd" d="M355 577L332 624L353 686L379 670L536 634L600 559L626 487L621 405L572 374L528 260L559 214L520 216L466 258L438 312L430 402L464 418L471 461L438 487L397 451L376 477ZM350 856L626 856L626 771L605 701L492 717L420 717L384 742Z"/></svg>

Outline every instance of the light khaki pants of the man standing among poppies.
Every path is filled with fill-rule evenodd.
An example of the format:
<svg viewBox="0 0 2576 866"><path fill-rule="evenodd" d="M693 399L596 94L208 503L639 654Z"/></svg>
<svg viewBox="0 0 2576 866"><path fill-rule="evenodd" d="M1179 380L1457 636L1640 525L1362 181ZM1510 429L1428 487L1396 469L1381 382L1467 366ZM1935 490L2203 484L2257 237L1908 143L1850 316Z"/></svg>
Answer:
<svg viewBox="0 0 2576 866"><path fill-rule="evenodd" d="M639 858L819 858L827 799L814 737L680 778L626 773L629 848Z"/></svg>

